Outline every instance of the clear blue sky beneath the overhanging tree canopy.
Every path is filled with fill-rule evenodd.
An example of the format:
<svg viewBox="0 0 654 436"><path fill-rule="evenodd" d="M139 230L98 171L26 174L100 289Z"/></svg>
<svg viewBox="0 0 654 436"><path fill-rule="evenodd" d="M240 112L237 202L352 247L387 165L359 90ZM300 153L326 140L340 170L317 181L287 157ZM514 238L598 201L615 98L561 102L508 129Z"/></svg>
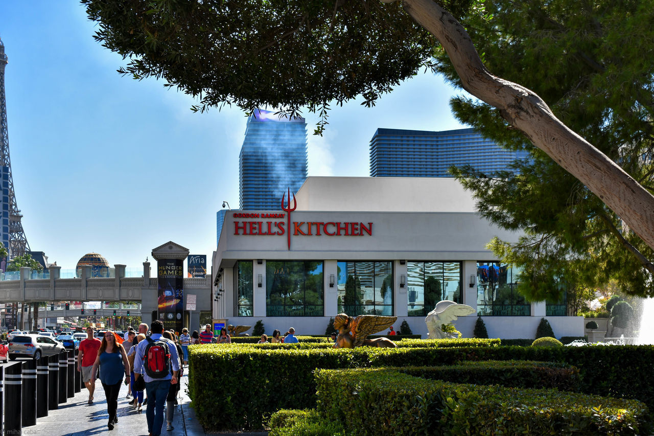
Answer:
<svg viewBox="0 0 654 436"><path fill-rule="evenodd" d="M12 175L31 249L63 268L90 251L141 267L169 240L211 259L216 211L239 206L244 113L192 113L194 101L163 82L118 75L124 62L94 27L77 1L0 1ZM379 127L464 127L449 109L455 93L422 74L373 109L334 106L323 137L305 113L309 175L369 175Z"/></svg>

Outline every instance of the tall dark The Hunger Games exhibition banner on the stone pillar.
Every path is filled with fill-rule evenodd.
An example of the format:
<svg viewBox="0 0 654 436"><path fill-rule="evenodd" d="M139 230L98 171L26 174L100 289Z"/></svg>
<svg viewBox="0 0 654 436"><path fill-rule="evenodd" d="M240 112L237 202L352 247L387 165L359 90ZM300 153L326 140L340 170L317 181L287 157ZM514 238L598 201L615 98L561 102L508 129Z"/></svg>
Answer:
<svg viewBox="0 0 654 436"><path fill-rule="evenodd" d="M157 261L159 282L159 319L163 328L182 331L184 314L184 261L160 259Z"/></svg>

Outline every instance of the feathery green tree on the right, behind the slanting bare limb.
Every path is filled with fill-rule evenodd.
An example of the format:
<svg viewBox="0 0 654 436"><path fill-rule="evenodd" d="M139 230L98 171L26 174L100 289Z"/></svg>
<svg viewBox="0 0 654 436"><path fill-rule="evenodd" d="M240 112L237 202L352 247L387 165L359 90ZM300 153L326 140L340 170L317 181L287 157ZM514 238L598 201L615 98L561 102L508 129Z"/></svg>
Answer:
<svg viewBox="0 0 654 436"><path fill-rule="evenodd" d="M492 20L467 20L485 65L537 92L562 122L652 192L654 64L642 56L654 40L651 3L488 0L485 7ZM461 86L447 56L440 51L437 58L439 71ZM556 299L557 278L571 278L573 291L615 279L627 293L654 295L651 244L601 195L509 128L501 111L462 97L451 106L484 136L530 151L530 160L515 162L511 172L453 170L473 191L482 215L500 227L526 229L517 244L491 244L523 269L521 292Z"/></svg>

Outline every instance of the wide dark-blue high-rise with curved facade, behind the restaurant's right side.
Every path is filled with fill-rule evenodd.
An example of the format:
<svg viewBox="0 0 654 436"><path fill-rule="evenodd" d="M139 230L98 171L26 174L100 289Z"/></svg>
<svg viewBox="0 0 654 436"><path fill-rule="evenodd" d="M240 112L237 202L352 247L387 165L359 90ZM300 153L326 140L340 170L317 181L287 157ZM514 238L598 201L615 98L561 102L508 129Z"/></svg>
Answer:
<svg viewBox="0 0 654 436"><path fill-rule="evenodd" d="M378 128L370 140L372 177L452 177L451 166L472 165L483 172L507 170L526 151L503 149L475 130L442 132Z"/></svg>

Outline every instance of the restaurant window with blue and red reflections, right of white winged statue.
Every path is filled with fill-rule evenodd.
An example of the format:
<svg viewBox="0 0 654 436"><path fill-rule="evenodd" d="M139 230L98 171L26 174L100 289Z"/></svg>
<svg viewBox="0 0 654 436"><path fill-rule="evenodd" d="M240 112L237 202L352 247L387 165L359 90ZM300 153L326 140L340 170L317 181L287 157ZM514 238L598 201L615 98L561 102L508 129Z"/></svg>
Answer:
<svg viewBox="0 0 654 436"><path fill-rule="evenodd" d="M530 316L531 305L517 292L519 269L500 262L477 262L477 314Z"/></svg>

